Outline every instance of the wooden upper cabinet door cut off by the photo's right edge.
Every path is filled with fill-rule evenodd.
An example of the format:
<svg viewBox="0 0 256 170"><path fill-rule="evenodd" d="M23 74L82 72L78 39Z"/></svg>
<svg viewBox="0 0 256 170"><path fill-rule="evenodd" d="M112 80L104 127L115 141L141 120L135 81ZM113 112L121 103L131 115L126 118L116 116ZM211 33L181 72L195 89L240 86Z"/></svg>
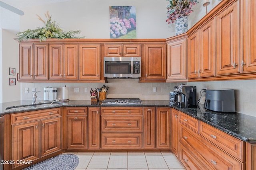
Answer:
<svg viewBox="0 0 256 170"><path fill-rule="evenodd" d="M242 0L242 72L256 71L256 1Z"/></svg>

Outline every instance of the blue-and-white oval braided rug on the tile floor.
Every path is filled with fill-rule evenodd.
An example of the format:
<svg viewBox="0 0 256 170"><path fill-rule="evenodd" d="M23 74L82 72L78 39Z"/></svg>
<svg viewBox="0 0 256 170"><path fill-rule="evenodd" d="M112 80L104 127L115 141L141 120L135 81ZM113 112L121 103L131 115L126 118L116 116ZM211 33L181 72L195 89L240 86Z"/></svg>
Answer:
<svg viewBox="0 0 256 170"><path fill-rule="evenodd" d="M60 154L48 158L23 170L74 170L78 166L79 158L74 154Z"/></svg>

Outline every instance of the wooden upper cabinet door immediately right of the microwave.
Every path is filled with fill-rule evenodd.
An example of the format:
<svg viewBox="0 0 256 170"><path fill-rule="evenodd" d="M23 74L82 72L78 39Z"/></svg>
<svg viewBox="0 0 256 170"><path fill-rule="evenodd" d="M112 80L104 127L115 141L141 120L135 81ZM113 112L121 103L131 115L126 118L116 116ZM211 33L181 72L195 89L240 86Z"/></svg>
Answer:
<svg viewBox="0 0 256 170"><path fill-rule="evenodd" d="M145 80L166 80L166 45L146 44L145 52Z"/></svg>

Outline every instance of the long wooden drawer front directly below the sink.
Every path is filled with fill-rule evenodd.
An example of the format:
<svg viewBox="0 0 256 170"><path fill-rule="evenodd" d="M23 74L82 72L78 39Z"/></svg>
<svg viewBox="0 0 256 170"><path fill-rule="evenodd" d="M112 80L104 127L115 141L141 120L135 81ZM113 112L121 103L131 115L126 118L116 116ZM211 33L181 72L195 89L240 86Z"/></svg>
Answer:
<svg viewBox="0 0 256 170"><path fill-rule="evenodd" d="M60 108L29 111L11 115L12 124L60 116Z"/></svg>

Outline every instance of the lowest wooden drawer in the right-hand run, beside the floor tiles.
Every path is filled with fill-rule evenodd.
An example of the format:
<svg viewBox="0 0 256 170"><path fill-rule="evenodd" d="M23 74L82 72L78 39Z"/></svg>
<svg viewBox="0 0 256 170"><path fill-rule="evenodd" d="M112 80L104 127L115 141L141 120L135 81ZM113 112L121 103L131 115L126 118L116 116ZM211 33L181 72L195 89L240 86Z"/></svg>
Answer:
<svg viewBox="0 0 256 170"><path fill-rule="evenodd" d="M180 143L180 162L182 162L182 164L188 170L207 170L208 168L206 168L206 166L200 162L200 158L192 154L190 150L192 149L189 146L185 147L182 143Z"/></svg>

